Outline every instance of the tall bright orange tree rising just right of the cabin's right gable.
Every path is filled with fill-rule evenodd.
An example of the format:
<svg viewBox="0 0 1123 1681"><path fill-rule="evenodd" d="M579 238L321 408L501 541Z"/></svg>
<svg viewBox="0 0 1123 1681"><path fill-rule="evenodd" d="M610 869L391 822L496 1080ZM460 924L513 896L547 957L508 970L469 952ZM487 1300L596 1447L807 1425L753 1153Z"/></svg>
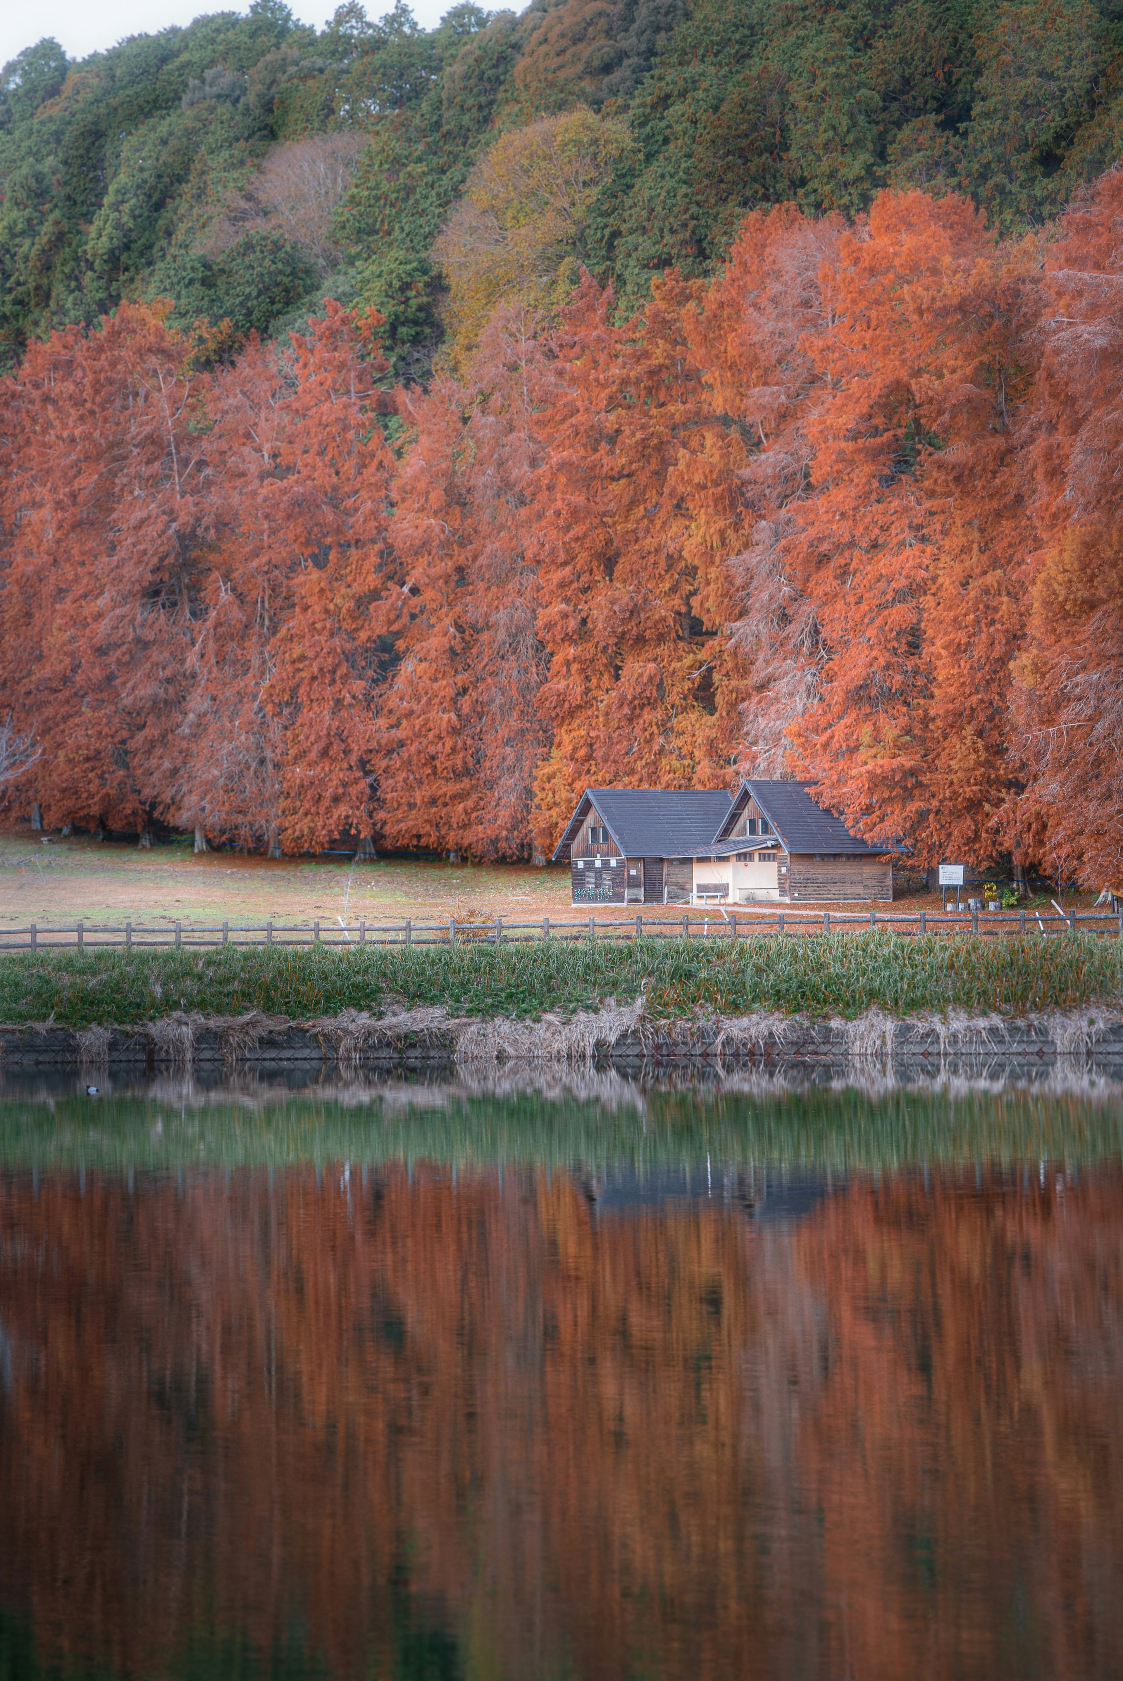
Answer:
<svg viewBox="0 0 1123 1681"><path fill-rule="evenodd" d="M829 659L797 763L920 862L987 862L1017 777L1020 274L965 200L883 193L827 291L800 541Z"/></svg>

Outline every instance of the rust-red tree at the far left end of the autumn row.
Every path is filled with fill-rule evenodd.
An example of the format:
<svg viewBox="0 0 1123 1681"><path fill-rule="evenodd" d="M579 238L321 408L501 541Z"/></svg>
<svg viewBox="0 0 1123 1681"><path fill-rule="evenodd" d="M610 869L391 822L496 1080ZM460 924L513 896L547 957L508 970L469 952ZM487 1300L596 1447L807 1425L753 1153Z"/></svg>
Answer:
<svg viewBox="0 0 1123 1681"><path fill-rule="evenodd" d="M49 824L143 827L214 518L208 380L165 311L30 345L0 390L3 689Z"/></svg>

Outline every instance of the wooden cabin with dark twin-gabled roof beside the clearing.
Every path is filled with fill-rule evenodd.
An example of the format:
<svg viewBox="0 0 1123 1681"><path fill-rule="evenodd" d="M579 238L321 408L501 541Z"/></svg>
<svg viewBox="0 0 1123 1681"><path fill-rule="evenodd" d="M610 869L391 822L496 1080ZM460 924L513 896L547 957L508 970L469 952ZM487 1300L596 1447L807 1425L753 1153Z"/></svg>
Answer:
<svg viewBox="0 0 1123 1681"><path fill-rule="evenodd" d="M807 787L587 788L553 857L568 854L573 904L891 899L891 849L859 840Z"/></svg>

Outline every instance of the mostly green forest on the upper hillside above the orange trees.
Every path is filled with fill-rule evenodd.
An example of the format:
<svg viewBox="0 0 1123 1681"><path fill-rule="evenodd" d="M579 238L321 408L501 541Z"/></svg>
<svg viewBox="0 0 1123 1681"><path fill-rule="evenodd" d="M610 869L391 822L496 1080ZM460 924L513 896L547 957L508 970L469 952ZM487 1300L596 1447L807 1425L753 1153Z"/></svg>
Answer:
<svg viewBox="0 0 1123 1681"><path fill-rule="evenodd" d="M81 62L40 40L0 79L0 366L126 299L234 350L335 298L415 382L504 289L550 306L585 266L622 318L768 203L957 192L1012 237L1116 160L1121 44L1116 0L535 0L434 30L350 0L321 32L254 0Z"/></svg>

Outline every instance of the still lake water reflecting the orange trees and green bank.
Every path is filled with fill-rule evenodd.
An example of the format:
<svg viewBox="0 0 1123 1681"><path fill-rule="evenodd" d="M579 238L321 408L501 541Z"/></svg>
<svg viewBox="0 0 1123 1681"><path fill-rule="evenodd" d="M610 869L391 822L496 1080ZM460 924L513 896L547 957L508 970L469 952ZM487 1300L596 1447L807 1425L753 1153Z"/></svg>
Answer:
<svg viewBox="0 0 1123 1681"><path fill-rule="evenodd" d="M1120 1104L0 1091L0 1676L1106 1678Z"/></svg>

